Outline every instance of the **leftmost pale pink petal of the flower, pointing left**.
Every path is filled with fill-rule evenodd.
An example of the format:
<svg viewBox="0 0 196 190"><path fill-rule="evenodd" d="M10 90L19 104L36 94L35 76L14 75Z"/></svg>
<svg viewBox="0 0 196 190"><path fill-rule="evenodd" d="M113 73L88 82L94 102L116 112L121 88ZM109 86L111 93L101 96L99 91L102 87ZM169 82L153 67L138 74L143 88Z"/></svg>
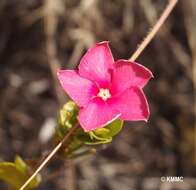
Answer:
<svg viewBox="0 0 196 190"><path fill-rule="evenodd" d="M59 70L57 76L65 92L81 107L98 93L93 82L80 77L74 70Z"/></svg>

